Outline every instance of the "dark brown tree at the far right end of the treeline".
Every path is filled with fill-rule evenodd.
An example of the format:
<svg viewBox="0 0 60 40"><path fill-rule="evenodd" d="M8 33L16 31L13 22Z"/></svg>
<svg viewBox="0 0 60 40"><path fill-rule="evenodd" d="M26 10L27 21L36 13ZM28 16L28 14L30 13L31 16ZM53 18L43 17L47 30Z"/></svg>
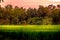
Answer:
<svg viewBox="0 0 60 40"><path fill-rule="evenodd" d="M55 9L52 11L53 24L60 24L60 9Z"/></svg>

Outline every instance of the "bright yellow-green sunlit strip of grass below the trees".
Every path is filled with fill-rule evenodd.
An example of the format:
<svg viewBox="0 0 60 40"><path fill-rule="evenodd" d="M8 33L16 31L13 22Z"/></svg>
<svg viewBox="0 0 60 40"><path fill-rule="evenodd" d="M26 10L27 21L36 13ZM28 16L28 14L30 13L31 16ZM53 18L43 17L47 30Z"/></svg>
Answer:
<svg viewBox="0 0 60 40"><path fill-rule="evenodd" d="M60 25L0 25L4 31L60 31Z"/></svg>

